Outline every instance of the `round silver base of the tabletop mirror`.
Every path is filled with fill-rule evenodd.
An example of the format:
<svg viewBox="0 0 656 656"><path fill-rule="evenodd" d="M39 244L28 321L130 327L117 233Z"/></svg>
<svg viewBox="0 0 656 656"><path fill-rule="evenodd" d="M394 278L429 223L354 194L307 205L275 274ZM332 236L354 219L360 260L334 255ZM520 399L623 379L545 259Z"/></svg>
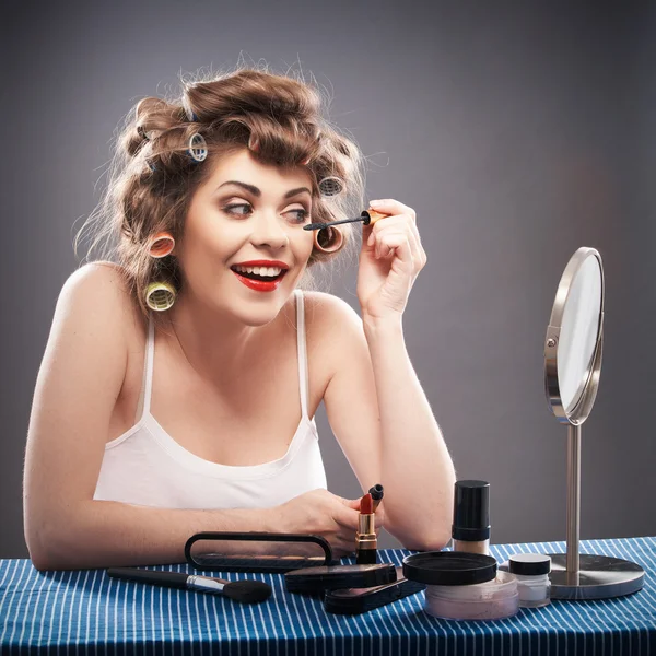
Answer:
<svg viewBox="0 0 656 656"><path fill-rule="evenodd" d="M631 561L609 555L578 555L578 572L566 571L566 554L551 555L552 599L609 599L636 593L643 587L645 571Z"/></svg>

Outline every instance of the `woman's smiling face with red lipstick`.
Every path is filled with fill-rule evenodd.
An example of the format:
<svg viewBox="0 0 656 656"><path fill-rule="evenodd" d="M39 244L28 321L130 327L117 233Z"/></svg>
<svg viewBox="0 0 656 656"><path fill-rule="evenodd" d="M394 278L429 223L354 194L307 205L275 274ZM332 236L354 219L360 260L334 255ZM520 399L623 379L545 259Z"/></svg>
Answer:
<svg viewBox="0 0 656 656"><path fill-rule="evenodd" d="M309 174L300 166L260 164L247 149L223 156L194 195L174 251L186 293L247 325L270 321L303 276L313 249L314 233L303 230L312 223L311 189ZM253 270L259 261L269 265ZM268 281L250 280L254 274Z"/></svg>

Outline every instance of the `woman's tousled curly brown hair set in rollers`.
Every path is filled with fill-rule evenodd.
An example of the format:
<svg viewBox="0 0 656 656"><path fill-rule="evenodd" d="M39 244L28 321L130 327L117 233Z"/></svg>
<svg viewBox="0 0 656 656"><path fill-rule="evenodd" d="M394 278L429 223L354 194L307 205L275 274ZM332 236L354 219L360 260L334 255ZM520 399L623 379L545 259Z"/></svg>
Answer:
<svg viewBox="0 0 656 656"><path fill-rule="evenodd" d="M143 316L149 283L165 280L178 290L184 284L176 258L152 258L149 242L162 231L181 238L190 200L220 157L248 148L263 164L305 166L313 180L314 223L356 216L363 206L364 157L324 117L327 98L317 85L243 67L204 80L197 74L183 87L181 97L147 97L130 110L116 140L106 191L74 241L78 255L80 239L90 236L84 260L95 253L96 259L119 265ZM187 152L197 132L208 145L201 163ZM343 191L321 197L318 181L325 177L339 178ZM340 231L343 250L353 245L353 224ZM300 286L314 288L309 268L336 255L313 249Z"/></svg>

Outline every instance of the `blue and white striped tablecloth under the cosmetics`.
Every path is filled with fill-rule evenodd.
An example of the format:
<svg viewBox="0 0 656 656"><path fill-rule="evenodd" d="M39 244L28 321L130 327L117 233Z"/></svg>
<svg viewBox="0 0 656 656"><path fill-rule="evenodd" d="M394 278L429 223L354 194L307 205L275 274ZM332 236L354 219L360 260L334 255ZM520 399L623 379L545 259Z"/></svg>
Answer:
<svg viewBox="0 0 656 656"><path fill-rule="evenodd" d="M511 553L562 553L563 542L492 546ZM656 538L584 540L582 553L642 565L644 588L601 601L558 601L506 620L447 621L423 611L423 593L360 616L326 613L319 599L291 595L280 574L229 573L273 587L263 604L109 578L103 570L39 573L28 560L0 560L2 654L656 654ZM380 551L400 564L405 550ZM198 571L187 565L155 569ZM208 574L210 574L208 572ZM219 575L214 573L214 575Z"/></svg>

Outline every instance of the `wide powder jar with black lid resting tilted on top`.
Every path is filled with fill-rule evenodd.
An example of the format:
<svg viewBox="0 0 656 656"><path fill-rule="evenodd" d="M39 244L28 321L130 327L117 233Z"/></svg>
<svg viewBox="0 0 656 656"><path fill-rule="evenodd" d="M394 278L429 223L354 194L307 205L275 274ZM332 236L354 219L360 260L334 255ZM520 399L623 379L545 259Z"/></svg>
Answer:
<svg viewBox="0 0 656 656"><path fill-rule="evenodd" d="M403 559L403 575L426 584L424 611L447 620L497 620L519 609L517 579L481 553L427 551Z"/></svg>

